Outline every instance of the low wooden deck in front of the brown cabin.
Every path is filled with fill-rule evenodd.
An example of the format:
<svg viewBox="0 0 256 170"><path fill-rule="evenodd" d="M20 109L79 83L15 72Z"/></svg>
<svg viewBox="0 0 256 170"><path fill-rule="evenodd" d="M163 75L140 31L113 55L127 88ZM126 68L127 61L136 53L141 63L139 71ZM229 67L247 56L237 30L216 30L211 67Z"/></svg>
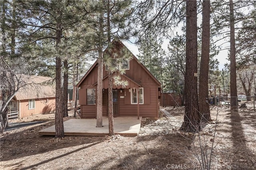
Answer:
<svg viewBox="0 0 256 170"><path fill-rule="evenodd" d="M119 135L137 136L142 117L114 117L114 132ZM96 127L96 119L70 119L64 121L65 136L108 135L108 117L102 119L103 127ZM55 125L39 131L39 135L55 135Z"/></svg>

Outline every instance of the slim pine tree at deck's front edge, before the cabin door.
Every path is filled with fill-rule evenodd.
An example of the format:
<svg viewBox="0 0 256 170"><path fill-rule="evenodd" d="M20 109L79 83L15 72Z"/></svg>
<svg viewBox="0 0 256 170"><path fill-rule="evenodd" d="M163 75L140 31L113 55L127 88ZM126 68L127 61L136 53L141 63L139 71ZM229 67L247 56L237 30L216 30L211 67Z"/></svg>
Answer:
<svg viewBox="0 0 256 170"><path fill-rule="evenodd" d="M112 3L110 0L107 1L105 5L106 8L106 27L107 27L107 42L108 42L108 51L112 53L112 45L110 44L111 39L115 42L115 38L118 39L127 39L131 33L131 23L129 17L131 16L132 2L130 0L123 2ZM118 26L115 26L118 25ZM111 29L118 28L120 32L118 34L112 33ZM114 44L113 44L114 45ZM122 53L120 55L123 55ZM105 57L105 59L108 57ZM112 56L110 56L112 59ZM122 58L126 58L125 54ZM109 59L107 59L109 60ZM111 62L112 63L112 62ZM118 64L118 63L117 63ZM119 63L120 65L120 63ZM109 126L109 135L114 135L114 114L113 114L113 73L119 72L122 74L122 70L116 68L109 63L106 64L108 67L108 126ZM122 84L123 82L114 82L115 84Z"/></svg>

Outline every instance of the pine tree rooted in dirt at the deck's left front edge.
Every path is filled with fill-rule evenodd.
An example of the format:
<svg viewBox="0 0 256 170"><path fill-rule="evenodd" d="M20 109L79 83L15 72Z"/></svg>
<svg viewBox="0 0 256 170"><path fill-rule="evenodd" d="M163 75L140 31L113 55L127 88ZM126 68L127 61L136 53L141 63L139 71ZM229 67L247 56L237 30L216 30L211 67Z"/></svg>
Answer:
<svg viewBox="0 0 256 170"><path fill-rule="evenodd" d="M55 57L56 82L56 138L64 137L63 128L63 86L62 86L62 58L65 45L62 41L63 31L74 27L77 23L78 11L72 8L76 4L72 1L26 1L22 2L29 18L26 25L29 28L30 41L40 47L49 47L50 58ZM73 4L72 4L73 3ZM48 44L46 44L48 43ZM55 44L55 46L53 46ZM65 50L64 50L65 51ZM47 53L45 49L39 53ZM66 79L67 80L67 79ZM67 92L64 92L65 94ZM65 104L66 106L66 104Z"/></svg>

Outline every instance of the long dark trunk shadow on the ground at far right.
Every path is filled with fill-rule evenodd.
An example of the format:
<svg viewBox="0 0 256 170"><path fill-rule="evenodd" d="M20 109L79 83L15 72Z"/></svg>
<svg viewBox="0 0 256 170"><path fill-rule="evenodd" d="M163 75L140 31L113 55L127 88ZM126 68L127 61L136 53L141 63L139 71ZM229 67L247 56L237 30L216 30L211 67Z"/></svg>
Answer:
<svg viewBox="0 0 256 170"><path fill-rule="evenodd" d="M244 127L242 123L247 117L241 117L238 111L230 112L230 125L232 133L232 143L233 143L233 167L232 169L240 170L254 170L256 169L256 155L252 153L252 150L248 148L246 136L244 134ZM255 127L255 123L254 123ZM255 135L255 134L251 134Z"/></svg>

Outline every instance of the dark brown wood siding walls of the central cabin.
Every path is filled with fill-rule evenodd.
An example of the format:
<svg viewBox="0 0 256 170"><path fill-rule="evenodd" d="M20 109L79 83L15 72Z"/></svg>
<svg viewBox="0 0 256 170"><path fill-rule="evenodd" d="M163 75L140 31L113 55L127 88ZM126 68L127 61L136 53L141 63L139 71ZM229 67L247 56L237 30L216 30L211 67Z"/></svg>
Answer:
<svg viewBox="0 0 256 170"><path fill-rule="evenodd" d="M122 44L121 44L122 46ZM120 49L120 47L118 47ZM121 86L114 86L113 89L118 89L118 115L119 116L137 116L137 104L131 104L130 88L144 88L144 104L139 105L139 115L142 117L158 117L159 101L158 101L158 88L160 83L156 80L149 71L140 63L138 63L136 57L131 53L131 60L129 61L129 70L126 70L124 75L121 75L122 80L126 80L128 86L122 88ZM121 57L120 57L121 58ZM84 100L80 102L82 118L96 118L96 105L86 105L86 89L97 88L97 64L94 63L90 71L85 74L82 80L78 83L80 88L79 96L85 97L79 98ZM114 73L115 74L115 73ZM108 111L108 71L105 65L103 66L103 104L102 115L106 116ZM120 90L122 89L122 92ZM105 94L106 93L106 94ZM120 96L124 96L120 98Z"/></svg>

